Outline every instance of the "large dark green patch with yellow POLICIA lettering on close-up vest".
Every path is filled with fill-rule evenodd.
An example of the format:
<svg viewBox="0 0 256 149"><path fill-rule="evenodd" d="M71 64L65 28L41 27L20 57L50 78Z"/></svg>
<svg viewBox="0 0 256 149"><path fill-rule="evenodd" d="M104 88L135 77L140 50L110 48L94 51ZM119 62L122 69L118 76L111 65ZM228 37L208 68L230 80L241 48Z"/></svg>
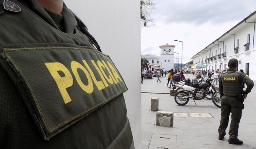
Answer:
<svg viewBox="0 0 256 149"><path fill-rule="evenodd" d="M22 91L45 139L127 90L110 57L96 50L34 47L1 51L1 65Z"/></svg>

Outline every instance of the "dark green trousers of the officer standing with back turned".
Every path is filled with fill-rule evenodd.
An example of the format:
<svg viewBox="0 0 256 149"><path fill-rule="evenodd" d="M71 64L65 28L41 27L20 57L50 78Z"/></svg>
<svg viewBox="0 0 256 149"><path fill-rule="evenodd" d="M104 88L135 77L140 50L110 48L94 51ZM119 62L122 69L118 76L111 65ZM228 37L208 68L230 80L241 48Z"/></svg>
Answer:
<svg viewBox="0 0 256 149"><path fill-rule="evenodd" d="M221 119L218 132L220 135L226 135L228 119L231 112L231 123L229 128L229 138L237 138L239 122L242 117L243 103L236 97L222 96L221 98Z"/></svg>

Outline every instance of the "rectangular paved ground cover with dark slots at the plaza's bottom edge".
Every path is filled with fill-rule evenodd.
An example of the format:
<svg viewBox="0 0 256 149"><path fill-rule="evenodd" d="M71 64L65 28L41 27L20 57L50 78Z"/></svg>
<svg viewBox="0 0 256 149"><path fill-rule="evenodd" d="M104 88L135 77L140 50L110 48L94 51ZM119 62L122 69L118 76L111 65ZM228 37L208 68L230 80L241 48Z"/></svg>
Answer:
<svg viewBox="0 0 256 149"><path fill-rule="evenodd" d="M177 147L176 135L152 134L148 149L174 149Z"/></svg>

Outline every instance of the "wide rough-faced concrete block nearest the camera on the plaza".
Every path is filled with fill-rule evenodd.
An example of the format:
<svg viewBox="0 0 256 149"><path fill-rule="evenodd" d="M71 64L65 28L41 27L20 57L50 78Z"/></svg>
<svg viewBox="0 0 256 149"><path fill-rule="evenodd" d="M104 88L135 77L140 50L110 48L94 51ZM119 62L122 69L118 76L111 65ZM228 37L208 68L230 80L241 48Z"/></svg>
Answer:
<svg viewBox="0 0 256 149"><path fill-rule="evenodd" d="M156 125L163 127L173 127L173 112L156 112Z"/></svg>

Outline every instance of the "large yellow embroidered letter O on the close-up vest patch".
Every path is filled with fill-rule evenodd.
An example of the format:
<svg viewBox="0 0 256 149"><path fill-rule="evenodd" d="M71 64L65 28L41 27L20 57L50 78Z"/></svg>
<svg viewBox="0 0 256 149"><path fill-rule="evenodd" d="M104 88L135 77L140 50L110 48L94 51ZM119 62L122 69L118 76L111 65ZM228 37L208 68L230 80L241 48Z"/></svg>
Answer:
<svg viewBox="0 0 256 149"><path fill-rule="evenodd" d="M76 61L72 61L71 62L71 69L72 69L72 72L74 73L74 76L76 78L76 81L78 83L78 85L88 94L91 94L93 92L93 81L91 80L91 77L90 77L90 74L89 72L84 68L83 65L81 65L80 63L76 62ZM86 75L87 77L87 80L88 80L88 85L84 85L78 72L77 72L77 69L81 69L84 74Z"/></svg>

